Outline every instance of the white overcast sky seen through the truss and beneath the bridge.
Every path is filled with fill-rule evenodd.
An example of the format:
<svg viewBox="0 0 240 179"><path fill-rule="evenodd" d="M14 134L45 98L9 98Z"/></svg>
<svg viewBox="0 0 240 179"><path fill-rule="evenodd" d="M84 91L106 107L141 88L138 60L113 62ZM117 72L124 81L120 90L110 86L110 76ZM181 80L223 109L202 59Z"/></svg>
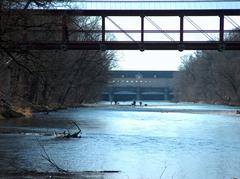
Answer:
<svg viewBox="0 0 240 179"><path fill-rule="evenodd" d="M109 17L124 30L139 30L139 17ZM164 30L179 30L179 17L150 17L159 27ZM189 17L203 30L218 30L219 17ZM236 23L240 25L240 18L231 16ZM156 30L149 21L145 20L146 30ZM234 26L225 19L225 29L233 29ZM119 30L108 19L106 20L107 30ZM196 30L195 27L187 20L184 20L185 30ZM140 40L140 34L129 34L134 40ZM208 34L211 38L217 40L218 34ZM130 40L124 33L114 34L117 40ZM179 34L169 34L172 39L179 41ZM153 41L170 41L163 33L145 34L145 40ZM184 40L209 40L203 34L185 34ZM177 50L122 50L117 51L118 63L114 70L178 70L181 64L181 57L191 55L194 51L185 50L179 52Z"/></svg>

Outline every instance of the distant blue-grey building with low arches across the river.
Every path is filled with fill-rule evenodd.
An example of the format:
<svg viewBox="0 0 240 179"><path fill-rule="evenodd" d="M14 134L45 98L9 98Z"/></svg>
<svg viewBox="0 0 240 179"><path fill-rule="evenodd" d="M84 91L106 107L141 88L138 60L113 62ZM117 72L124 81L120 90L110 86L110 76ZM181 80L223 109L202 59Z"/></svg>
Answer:
<svg viewBox="0 0 240 179"><path fill-rule="evenodd" d="M172 100L177 71L111 71L102 99L106 101Z"/></svg>

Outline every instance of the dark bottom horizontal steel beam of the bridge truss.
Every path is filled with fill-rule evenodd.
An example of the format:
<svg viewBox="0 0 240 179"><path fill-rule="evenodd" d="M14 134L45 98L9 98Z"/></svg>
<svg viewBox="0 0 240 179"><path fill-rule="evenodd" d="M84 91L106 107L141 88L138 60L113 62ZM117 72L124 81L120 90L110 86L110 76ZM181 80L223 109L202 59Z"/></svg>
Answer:
<svg viewBox="0 0 240 179"><path fill-rule="evenodd" d="M105 41L102 42L67 42L64 45L69 50L102 50L102 46L104 46L104 50L140 50L139 42L129 42L129 41ZM184 45L184 50L219 50L219 42L207 42L207 41L199 41L199 42L191 42L185 41L180 43L177 42L154 42L154 41L145 41L144 49L145 50L178 50L179 45ZM48 42L48 43L14 43L7 44L9 48L24 48L29 50L62 50L61 42ZM240 41L226 41L224 42L225 50L239 50L240 49Z"/></svg>

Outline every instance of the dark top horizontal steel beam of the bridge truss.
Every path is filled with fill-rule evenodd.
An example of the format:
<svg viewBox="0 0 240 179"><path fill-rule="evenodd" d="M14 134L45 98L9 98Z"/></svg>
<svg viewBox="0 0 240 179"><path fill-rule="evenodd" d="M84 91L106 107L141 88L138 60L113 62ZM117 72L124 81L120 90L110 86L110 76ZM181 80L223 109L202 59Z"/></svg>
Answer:
<svg viewBox="0 0 240 179"><path fill-rule="evenodd" d="M67 16L237 16L239 9L195 9L195 10L43 10L43 9L18 9L1 10L1 15L67 15Z"/></svg>

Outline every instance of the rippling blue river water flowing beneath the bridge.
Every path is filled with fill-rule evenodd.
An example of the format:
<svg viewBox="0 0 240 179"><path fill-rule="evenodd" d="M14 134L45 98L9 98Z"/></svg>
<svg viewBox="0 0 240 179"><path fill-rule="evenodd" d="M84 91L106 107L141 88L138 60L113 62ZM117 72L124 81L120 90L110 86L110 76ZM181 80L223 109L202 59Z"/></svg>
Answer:
<svg viewBox="0 0 240 179"><path fill-rule="evenodd" d="M146 103L146 102L144 102ZM0 169L54 171L43 147L69 171L120 171L103 178L240 178L240 116L223 105L147 102L34 114L0 121ZM56 138L75 121L80 139Z"/></svg>

